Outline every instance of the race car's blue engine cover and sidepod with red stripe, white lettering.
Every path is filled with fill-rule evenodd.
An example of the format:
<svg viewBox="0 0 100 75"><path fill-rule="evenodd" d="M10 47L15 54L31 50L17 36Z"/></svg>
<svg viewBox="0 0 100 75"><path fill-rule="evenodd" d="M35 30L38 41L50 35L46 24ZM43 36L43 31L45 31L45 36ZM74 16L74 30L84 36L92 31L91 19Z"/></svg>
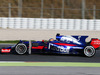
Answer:
<svg viewBox="0 0 100 75"><path fill-rule="evenodd" d="M56 40L49 42L51 53L79 54L86 46L88 36L56 36Z"/></svg>

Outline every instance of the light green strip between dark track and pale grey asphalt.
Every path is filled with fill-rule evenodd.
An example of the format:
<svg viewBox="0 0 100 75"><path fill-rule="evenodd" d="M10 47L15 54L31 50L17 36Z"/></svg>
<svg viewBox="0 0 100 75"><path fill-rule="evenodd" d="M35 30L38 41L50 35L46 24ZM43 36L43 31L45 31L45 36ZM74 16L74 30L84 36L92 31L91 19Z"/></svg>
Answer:
<svg viewBox="0 0 100 75"><path fill-rule="evenodd" d="M0 66L100 67L100 63L80 63L80 62L0 62Z"/></svg>

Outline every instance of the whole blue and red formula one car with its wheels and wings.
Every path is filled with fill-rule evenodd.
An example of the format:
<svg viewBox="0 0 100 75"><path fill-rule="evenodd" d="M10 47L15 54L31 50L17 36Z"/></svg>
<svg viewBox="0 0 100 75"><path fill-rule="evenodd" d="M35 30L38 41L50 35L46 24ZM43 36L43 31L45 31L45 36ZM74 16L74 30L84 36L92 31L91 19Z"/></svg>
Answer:
<svg viewBox="0 0 100 75"><path fill-rule="evenodd" d="M49 39L47 42L42 41L19 41L16 45L2 48L1 53L56 53L56 54L82 54L92 57L96 49L100 46L100 40L92 38L85 42L88 36L64 36L57 34L56 40Z"/></svg>

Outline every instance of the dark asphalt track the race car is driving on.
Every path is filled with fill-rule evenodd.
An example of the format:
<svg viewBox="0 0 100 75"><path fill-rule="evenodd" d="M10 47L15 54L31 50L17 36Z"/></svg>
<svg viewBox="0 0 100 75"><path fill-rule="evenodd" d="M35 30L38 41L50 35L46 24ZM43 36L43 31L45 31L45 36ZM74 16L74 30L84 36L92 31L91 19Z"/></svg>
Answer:
<svg viewBox="0 0 100 75"><path fill-rule="evenodd" d="M10 44L0 44L1 47L10 46ZM55 55L55 54L0 54L0 61L28 61L28 62L97 62L100 63L100 49L92 58L80 55Z"/></svg>

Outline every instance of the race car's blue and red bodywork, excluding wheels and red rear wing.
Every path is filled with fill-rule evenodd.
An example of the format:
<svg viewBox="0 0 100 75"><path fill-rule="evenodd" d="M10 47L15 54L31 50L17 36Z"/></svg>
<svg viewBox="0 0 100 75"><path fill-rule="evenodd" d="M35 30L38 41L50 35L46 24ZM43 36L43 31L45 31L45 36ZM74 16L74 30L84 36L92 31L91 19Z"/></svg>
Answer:
<svg viewBox="0 0 100 75"><path fill-rule="evenodd" d="M57 53L57 54L80 54L87 45L85 39L88 36L63 36L57 35L53 41L32 41L31 51L33 53ZM14 50L15 47L23 43L29 48L29 41L19 41L16 45L5 49Z"/></svg>

